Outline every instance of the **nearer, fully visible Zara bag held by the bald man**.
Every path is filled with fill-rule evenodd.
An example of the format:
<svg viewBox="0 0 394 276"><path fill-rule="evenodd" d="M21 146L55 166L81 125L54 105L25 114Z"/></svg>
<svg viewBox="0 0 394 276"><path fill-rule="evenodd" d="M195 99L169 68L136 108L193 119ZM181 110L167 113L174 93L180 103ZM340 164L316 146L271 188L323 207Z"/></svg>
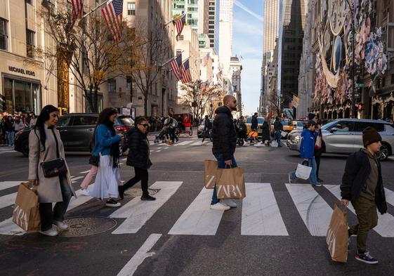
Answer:
<svg viewBox="0 0 394 276"><path fill-rule="evenodd" d="M242 199L246 197L244 169L217 169L216 191L218 199Z"/></svg>

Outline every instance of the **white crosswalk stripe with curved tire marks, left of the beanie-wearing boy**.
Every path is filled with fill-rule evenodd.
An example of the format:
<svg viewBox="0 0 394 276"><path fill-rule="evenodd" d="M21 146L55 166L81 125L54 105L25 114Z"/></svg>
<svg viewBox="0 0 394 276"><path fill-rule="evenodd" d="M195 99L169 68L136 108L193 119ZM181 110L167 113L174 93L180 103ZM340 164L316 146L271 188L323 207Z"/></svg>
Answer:
<svg viewBox="0 0 394 276"><path fill-rule="evenodd" d="M286 184L298 213L308 228L310 235L326 235L332 209L309 184Z"/></svg>

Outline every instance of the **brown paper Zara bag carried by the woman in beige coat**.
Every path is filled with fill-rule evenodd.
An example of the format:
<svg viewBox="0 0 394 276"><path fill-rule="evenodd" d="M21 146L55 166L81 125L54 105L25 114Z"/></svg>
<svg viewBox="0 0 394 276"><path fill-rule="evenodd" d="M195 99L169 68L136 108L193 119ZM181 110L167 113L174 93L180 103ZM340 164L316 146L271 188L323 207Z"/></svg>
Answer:
<svg viewBox="0 0 394 276"><path fill-rule="evenodd" d="M26 232L37 232L40 228L39 196L29 183L20 183L13 209L13 222Z"/></svg>

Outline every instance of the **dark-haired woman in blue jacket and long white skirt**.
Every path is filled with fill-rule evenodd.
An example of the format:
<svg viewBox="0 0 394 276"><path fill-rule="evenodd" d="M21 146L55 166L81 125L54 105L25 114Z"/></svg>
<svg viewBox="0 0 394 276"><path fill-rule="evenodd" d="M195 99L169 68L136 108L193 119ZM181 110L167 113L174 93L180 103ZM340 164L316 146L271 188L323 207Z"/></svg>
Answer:
<svg viewBox="0 0 394 276"><path fill-rule="evenodd" d="M98 114L98 121L93 133L93 156L98 156L98 171L93 188L88 191L92 197L107 199L105 206L121 206L114 198L119 197L118 185L120 184L119 173L119 142L122 133L117 134L114 129L114 121L117 110L112 107L105 108Z"/></svg>

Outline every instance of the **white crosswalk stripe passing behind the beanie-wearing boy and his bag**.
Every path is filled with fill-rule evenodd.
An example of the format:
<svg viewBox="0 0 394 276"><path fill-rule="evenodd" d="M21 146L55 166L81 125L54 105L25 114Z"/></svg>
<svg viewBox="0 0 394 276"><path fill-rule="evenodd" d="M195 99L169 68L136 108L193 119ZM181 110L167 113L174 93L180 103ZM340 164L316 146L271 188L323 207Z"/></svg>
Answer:
<svg viewBox="0 0 394 276"><path fill-rule="evenodd" d="M339 185L324 185L327 190L329 190L337 199L341 199L341 188ZM352 204L348 205L348 209L355 213L355 209ZM381 235L382 237L394 237L394 217L390 215L390 213L385 213L381 215L378 212L378 225L374 228L374 230Z"/></svg>

